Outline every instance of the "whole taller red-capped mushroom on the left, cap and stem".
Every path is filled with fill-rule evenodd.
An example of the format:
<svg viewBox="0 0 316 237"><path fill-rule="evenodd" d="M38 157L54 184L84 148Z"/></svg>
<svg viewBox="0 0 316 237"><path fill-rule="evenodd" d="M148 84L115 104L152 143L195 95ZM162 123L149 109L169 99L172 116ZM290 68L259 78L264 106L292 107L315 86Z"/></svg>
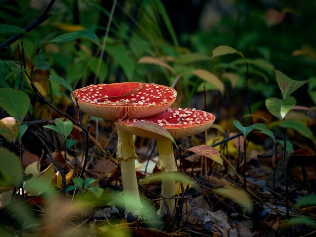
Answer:
<svg viewBox="0 0 316 237"><path fill-rule="evenodd" d="M123 118L139 118L160 113L175 101L177 92L167 86L122 82L113 84L90 85L74 91L80 109L90 115L104 120L122 120ZM135 171L134 159L137 158L134 148L133 135L117 130L117 158L121 162L123 190L125 196L134 199L135 209L126 208L128 214L139 215L140 198Z"/></svg>

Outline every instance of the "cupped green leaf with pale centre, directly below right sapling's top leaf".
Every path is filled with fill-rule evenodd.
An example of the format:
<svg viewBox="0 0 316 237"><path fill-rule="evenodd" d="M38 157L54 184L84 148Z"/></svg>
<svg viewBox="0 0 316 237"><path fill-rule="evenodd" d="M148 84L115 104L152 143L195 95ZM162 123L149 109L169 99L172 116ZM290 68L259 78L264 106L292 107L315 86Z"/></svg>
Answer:
<svg viewBox="0 0 316 237"><path fill-rule="evenodd" d="M296 99L292 96L286 99L268 98L266 99L266 107L268 111L278 117L284 118L285 115L295 106Z"/></svg>

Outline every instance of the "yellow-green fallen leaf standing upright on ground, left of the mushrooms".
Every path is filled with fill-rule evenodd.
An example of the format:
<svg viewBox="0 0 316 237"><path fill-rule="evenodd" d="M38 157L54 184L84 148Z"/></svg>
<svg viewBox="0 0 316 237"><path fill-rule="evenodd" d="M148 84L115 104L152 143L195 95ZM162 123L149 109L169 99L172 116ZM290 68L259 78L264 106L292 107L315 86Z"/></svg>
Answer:
<svg viewBox="0 0 316 237"><path fill-rule="evenodd" d="M55 167L50 164L45 170L31 177L23 183L23 188L29 196L39 196L49 191L50 183L55 177Z"/></svg>

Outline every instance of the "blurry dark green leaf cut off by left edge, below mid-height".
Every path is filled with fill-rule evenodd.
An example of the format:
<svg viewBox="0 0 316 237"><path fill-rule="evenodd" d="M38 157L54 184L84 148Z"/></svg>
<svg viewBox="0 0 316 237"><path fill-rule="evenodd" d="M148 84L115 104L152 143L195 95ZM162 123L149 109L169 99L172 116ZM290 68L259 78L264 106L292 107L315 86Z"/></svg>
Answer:
<svg viewBox="0 0 316 237"><path fill-rule="evenodd" d="M0 147L0 173L9 184L19 186L23 173L21 160L4 147Z"/></svg>

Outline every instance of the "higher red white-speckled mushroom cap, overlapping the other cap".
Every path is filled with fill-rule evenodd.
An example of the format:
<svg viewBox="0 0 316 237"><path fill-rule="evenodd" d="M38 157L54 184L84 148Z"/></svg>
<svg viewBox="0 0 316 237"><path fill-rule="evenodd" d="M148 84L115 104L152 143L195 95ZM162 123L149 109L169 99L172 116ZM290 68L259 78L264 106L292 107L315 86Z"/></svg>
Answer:
<svg viewBox="0 0 316 237"><path fill-rule="evenodd" d="M149 83L98 84L74 91L80 109L106 120L139 118L160 113L177 97L175 89ZM72 95L75 102L75 98Z"/></svg>

